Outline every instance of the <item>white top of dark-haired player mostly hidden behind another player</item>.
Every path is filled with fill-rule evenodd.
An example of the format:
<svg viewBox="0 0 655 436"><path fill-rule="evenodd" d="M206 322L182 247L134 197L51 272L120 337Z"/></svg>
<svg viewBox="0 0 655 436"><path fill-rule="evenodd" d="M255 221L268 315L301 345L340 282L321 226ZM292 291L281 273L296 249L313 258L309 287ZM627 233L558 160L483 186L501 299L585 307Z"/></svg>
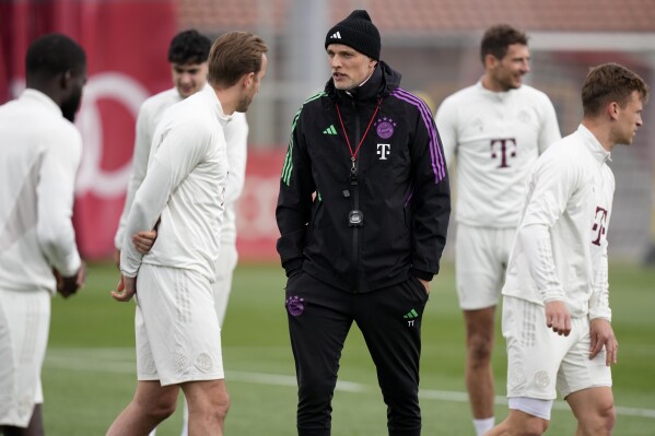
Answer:
<svg viewBox="0 0 655 436"><path fill-rule="evenodd" d="M114 246L118 249L122 245L125 225L132 202L134 201L134 192L137 192L137 189L139 189L145 177L154 129L166 109L183 99L177 89L173 87L148 98L139 109L134 135L132 172L127 187L125 207L120 215L116 236L114 237ZM225 140L229 144L227 162L230 163L230 176L225 191L225 216L223 219L223 229L221 231L221 241L234 244L236 241L234 205L243 191L246 174L248 122L246 121L245 114L234 113L232 121L225 126Z"/></svg>

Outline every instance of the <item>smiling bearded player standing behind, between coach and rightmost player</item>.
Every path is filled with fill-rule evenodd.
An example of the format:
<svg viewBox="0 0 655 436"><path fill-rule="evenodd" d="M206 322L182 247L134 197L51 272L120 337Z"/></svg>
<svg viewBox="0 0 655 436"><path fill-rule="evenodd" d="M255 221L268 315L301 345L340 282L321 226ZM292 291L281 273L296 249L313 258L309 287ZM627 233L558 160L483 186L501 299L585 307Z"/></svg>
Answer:
<svg viewBox="0 0 655 436"><path fill-rule="evenodd" d="M530 71L527 36L490 27L478 83L438 107L446 163L457 168L455 269L466 327L466 385L479 435L494 424L491 353L494 314L531 164L560 139L546 94L523 83Z"/></svg>

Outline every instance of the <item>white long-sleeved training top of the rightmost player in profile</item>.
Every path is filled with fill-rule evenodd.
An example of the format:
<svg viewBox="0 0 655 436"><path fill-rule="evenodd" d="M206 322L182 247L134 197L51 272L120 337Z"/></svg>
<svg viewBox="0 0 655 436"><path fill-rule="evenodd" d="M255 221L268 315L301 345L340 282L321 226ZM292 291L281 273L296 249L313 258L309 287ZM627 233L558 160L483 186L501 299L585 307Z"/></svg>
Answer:
<svg viewBox="0 0 655 436"><path fill-rule="evenodd" d="M566 303L572 317L611 320L607 228L610 154L584 126L552 144L529 176L503 295Z"/></svg>

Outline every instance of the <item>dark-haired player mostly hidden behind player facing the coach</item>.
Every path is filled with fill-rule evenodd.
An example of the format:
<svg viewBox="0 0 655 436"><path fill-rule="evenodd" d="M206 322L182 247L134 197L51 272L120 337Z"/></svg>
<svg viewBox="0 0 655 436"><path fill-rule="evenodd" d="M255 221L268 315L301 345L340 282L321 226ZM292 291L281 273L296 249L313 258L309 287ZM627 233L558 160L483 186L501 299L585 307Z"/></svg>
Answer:
<svg viewBox="0 0 655 436"><path fill-rule="evenodd" d="M132 157L132 173L127 189L125 208L114 238L116 246L115 259L117 264L120 258L120 246L125 236L125 225L134 193L141 186L151 155L152 139L156 125L162 119L164 111L176 103L200 91L207 83L207 57L211 42L204 35L190 30L180 32L168 47L168 62L174 87L148 98L141 105L137 117L137 131L134 152ZM236 251L236 219L235 203L241 196L245 181L248 123L245 114L235 113L225 128L227 143L227 163L230 164L227 187L225 190L225 212L221 229L221 247L217 261L217 278L213 283L214 308L222 326L227 308L227 301L232 288L232 275L236 267L238 254ZM134 241L143 244L148 250L152 244L153 235L145 233L137 235ZM188 429L188 410L185 405L182 435L186 436ZM155 431L151 436L155 435Z"/></svg>

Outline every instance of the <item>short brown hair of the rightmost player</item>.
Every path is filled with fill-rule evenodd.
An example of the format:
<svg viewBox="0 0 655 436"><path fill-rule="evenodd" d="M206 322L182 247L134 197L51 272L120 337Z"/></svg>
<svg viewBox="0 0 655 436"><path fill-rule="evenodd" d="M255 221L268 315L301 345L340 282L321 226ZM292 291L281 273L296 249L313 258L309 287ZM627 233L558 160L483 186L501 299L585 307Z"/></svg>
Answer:
<svg viewBox="0 0 655 436"><path fill-rule="evenodd" d="M624 107L634 91L643 102L648 99L648 85L634 71L613 62L597 66L589 71L582 86L584 115L598 115L611 102Z"/></svg>

